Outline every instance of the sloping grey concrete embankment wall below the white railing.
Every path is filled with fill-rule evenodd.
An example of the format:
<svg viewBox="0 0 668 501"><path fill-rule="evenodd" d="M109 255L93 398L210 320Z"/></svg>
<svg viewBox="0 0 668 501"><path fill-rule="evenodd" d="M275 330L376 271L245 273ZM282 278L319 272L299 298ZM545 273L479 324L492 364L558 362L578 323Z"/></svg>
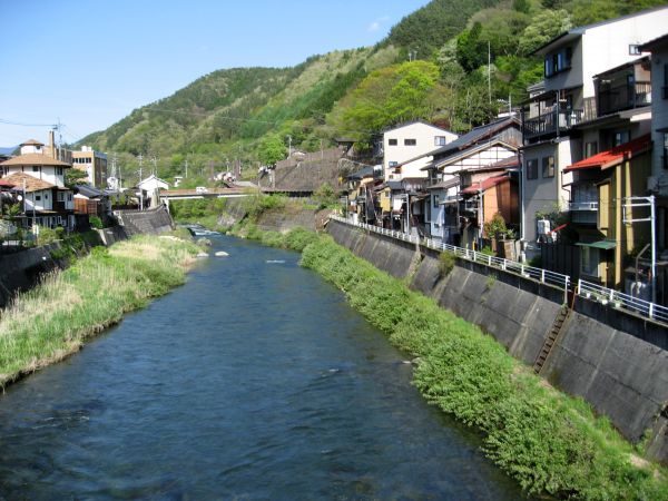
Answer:
<svg viewBox="0 0 668 501"><path fill-rule="evenodd" d="M410 276L412 288L479 325L530 365L564 303L562 291L512 273L458 258L452 272L441 277L438 253L432 249L416 250L415 244L336 220L330 222L327 230L376 267L399 278ZM649 342L658 342L661 333L665 337L666 330L632 315L600 315L598 306L589 303L577 298L541 375L560 390L582 396L627 439L639 441L650 430L651 456L668 464L668 352ZM587 314L597 312L599 316ZM603 323L611 316L612 325ZM620 325L640 332L625 332Z"/></svg>

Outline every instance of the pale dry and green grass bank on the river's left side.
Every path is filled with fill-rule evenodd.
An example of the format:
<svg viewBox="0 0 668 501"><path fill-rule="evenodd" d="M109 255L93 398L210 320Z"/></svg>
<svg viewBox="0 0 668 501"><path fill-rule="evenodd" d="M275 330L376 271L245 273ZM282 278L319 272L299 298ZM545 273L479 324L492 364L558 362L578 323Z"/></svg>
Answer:
<svg viewBox="0 0 668 501"><path fill-rule="evenodd" d="M0 386L62 360L84 341L185 279L197 247L138 236L95 247L0 311Z"/></svg>

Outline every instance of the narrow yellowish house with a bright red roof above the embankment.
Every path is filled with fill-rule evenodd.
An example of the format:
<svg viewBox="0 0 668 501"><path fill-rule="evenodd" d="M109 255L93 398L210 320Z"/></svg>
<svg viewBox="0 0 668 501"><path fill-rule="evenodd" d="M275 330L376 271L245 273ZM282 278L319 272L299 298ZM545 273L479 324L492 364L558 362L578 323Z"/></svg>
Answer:
<svg viewBox="0 0 668 501"><path fill-rule="evenodd" d="M640 136L579 160L572 175L571 226L578 234L580 277L609 288L625 288L625 262L650 240L649 224L626 224L641 216L625 199L645 194L651 173L651 137Z"/></svg>

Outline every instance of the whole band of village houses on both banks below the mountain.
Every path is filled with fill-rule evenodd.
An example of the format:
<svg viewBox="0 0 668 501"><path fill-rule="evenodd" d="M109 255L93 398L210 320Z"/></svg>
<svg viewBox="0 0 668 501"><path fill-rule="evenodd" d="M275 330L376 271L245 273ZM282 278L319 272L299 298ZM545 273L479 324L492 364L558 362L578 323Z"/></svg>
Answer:
<svg viewBox="0 0 668 501"><path fill-rule="evenodd" d="M289 147L286 159L244 183L239 164L223 171L212 164L209 183L293 197L326 185L353 224L495 254L666 305L666 26L668 7L659 7L559 35L534 51L544 78L527 89L529 99L468 132L410 120L380 130L372 150L361 151L355 138L312 153ZM52 132L48 143L27 140L20 155L0 163L9 243L17 228L28 240L32 228L88 228L91 216L111 224L114 209L157 207L160 193L183 181L161 179L154 157L144 158L138 183L124 187L107 154L69 150ZM82 174L68 185L72 170Z"/></svg>

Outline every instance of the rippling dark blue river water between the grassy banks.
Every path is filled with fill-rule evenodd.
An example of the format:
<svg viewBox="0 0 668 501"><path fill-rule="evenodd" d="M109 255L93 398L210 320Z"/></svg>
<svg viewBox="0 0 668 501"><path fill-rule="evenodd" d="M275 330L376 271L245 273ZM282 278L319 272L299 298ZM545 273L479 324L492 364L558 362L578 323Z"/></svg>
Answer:
<svg viewBox="0 0 668 501"><path fill-rule="evenodd" d="M230 237L0 399L4 499L519 499L297 254Z"/></svg>

